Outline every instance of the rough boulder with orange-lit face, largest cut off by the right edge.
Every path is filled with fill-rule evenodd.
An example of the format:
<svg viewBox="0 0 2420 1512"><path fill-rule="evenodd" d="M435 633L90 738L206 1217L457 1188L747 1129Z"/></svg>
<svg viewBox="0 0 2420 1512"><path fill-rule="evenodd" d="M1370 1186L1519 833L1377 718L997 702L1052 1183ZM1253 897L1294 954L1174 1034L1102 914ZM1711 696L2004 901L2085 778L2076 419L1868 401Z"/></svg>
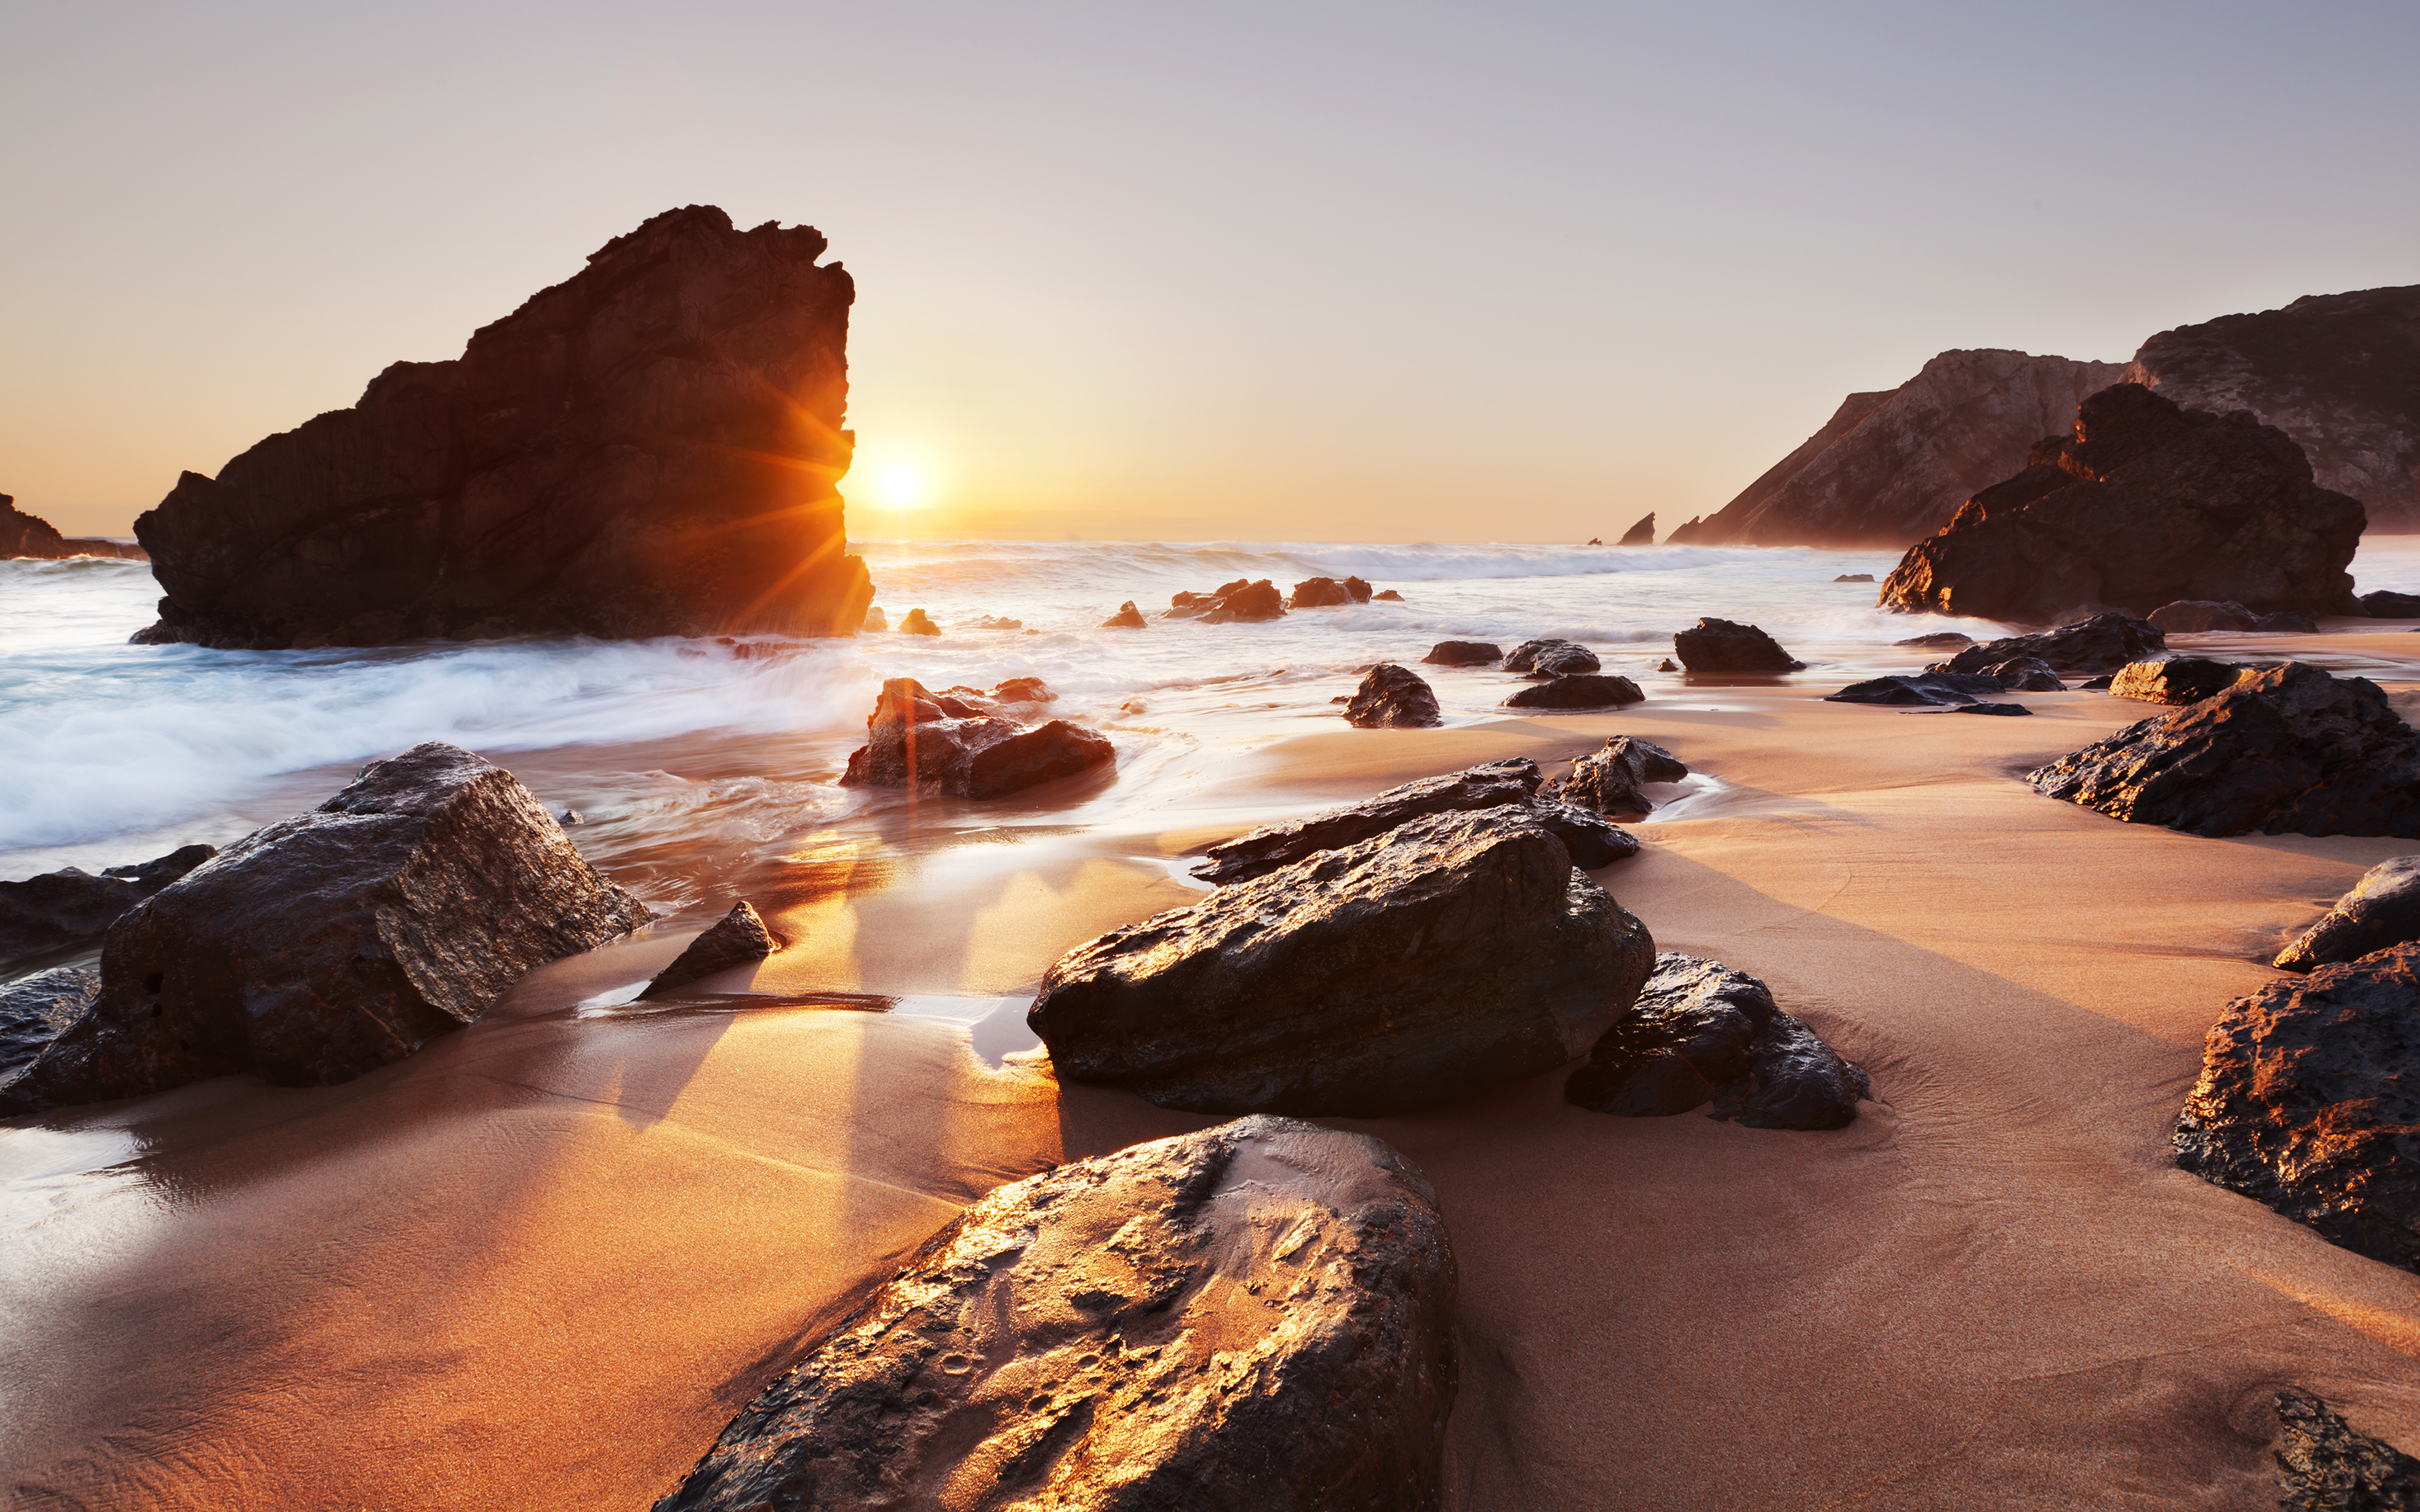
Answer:
<svg viewBox="0 0 2420 1512"><path fill-rule="evenodd" d="M2176 1164L2420 1270L2420 946L2226 1004L2176 1120Z"/></svg>

